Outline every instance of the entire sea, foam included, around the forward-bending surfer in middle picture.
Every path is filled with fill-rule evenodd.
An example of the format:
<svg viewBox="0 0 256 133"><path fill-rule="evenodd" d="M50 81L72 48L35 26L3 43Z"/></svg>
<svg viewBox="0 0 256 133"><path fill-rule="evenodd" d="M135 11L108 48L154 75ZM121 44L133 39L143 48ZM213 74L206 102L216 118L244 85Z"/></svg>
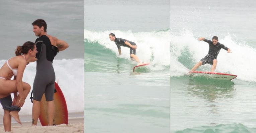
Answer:
<svg viewBox="0 0 256 133"><path fill-rule="evenodd" d="M170 132L170 1L87 0L84 15L85 132ZM109 33L137 44L145 67Z"/></svg>

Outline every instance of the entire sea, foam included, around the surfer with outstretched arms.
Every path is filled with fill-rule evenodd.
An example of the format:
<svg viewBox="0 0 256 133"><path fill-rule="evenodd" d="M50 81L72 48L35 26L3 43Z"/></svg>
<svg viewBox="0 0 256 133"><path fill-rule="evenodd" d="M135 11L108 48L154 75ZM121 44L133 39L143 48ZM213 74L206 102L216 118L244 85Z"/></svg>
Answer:
<svg viewBox="0 0 256 133"><path fill-rule="evenodd" d="M256 132L254 6L252 0L171 3L172 133ZM211 40L215 35L232 52L220 51L216 72L237 78L220 81L188 76L188 70L208 52L208 44L198 38ZM197 71L210 69L206 64Z"/></svg>

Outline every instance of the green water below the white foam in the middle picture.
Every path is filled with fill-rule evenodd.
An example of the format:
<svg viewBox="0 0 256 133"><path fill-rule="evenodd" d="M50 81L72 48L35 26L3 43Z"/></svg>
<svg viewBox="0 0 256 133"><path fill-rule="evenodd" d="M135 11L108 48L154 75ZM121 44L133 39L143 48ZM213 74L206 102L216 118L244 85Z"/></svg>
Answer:
<svg viewBox="0 0 256 133"><path fill-rule="evenodd" d="M85 131L169 132L170 66L152 56L152 65L133 72L136 62L100 43L84 43Z"/></svg>

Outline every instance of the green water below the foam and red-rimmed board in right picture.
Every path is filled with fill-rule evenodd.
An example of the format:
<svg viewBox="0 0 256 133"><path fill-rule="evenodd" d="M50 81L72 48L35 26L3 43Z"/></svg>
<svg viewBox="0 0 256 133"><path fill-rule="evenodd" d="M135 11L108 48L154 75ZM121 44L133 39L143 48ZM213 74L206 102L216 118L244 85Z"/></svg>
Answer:
<svg viewBox="0 0 256 133"><path fill-rule="evenodd" d="M171 131L255 131L255 82L171 78ZM248 130L248 131L247 131Z"/></svg>

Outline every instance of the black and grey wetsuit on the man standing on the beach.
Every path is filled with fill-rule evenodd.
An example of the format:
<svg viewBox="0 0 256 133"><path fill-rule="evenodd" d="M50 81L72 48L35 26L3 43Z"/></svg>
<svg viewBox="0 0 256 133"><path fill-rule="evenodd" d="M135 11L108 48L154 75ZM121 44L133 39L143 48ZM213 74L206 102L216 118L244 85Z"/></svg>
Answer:
<svg viewBox="0 0 256 133"><path fill-rule="evenodd" d="M33 99L41 101L45 93L46 101L52 101L55 88L55 72L53 59L59 52L58 48L51 44L46 35L35 40L36 53L36 74L33 84Z"/></svg>

